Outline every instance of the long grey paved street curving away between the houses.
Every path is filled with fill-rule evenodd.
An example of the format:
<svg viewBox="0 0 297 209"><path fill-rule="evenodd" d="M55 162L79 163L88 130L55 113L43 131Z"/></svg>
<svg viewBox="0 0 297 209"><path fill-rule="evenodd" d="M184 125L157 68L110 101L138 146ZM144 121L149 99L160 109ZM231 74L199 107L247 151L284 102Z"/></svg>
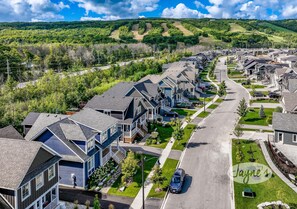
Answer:
<svg viewBox="0 0 297 209"><path fill-rule="evenodd" d="M217 69L226 80L226 58L220 58ZM237 118L240 99L247 92L226 80L226 100L204 121L204 127L195 132L181 162L188 174L181 194L169 194L166 209L230 209L232 208L231 181L228 177L231 158L231 133Z"/></svg>

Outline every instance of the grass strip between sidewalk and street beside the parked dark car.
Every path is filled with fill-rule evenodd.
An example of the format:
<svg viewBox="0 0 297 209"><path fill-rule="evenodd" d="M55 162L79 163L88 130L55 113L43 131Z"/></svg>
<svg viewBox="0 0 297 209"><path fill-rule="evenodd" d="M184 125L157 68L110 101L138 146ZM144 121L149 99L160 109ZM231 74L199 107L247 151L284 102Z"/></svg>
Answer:
<svg viewBox="0 0 297 209"><path fill-rule="evenodd" d="M156 198L164 198L166 194L166 190L168 185L170 184L171 176L173 175L176 166L177 166L178 160L173 160L167 158L162 171L163 171L163 176L166 176L165 182L163 182L162 188L163 190L160 192L156 192L157 185L154 184L153 188L151 189L148 197L156 197Z"/></svg>

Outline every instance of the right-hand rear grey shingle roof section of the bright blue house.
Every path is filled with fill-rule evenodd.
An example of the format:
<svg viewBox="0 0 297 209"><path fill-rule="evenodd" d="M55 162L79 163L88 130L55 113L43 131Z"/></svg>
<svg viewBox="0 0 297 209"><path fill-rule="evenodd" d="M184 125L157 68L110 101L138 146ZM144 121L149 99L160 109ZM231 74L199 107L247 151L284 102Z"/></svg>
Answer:
<svg viewBox="0 0 297 209"><path fill-rule="evenodd" d="M72 115L70 119L76 123L80 123L99 132L107 130L109 127L118 122L118 120L114 117L108 116L90 108L84 108L83 110Z"/></svg>

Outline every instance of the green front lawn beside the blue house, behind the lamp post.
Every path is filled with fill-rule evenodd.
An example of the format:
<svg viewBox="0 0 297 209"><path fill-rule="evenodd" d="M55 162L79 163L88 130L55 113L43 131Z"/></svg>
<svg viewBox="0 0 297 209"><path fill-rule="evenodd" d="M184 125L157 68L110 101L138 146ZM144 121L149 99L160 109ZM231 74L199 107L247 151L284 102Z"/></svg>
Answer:
<svg viewBox="0 0 297 209"><path fill-rule="evenodd" d="M157 162L158 157L154 157L152 155L145 155L145 157L147 162L144 163L144 178L146 179ZM137 173L133 178L133 182L123 192L119 191L121 188L121 177L122 176L120 175L119 178L113 183L108 191L108 194L133 198L136 197L141 188L141 168L137 170Z"/></svg>

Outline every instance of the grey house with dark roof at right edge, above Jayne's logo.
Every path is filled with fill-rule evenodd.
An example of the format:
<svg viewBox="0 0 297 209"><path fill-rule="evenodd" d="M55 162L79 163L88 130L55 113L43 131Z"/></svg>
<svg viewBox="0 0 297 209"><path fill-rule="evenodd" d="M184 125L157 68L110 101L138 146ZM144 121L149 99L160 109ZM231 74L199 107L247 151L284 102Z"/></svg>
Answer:
<svg viewBox="0 0 297 209"><path fill-rule="evenodd" d="M274 142L297 145L297 115L273 113Z"/></svg>

